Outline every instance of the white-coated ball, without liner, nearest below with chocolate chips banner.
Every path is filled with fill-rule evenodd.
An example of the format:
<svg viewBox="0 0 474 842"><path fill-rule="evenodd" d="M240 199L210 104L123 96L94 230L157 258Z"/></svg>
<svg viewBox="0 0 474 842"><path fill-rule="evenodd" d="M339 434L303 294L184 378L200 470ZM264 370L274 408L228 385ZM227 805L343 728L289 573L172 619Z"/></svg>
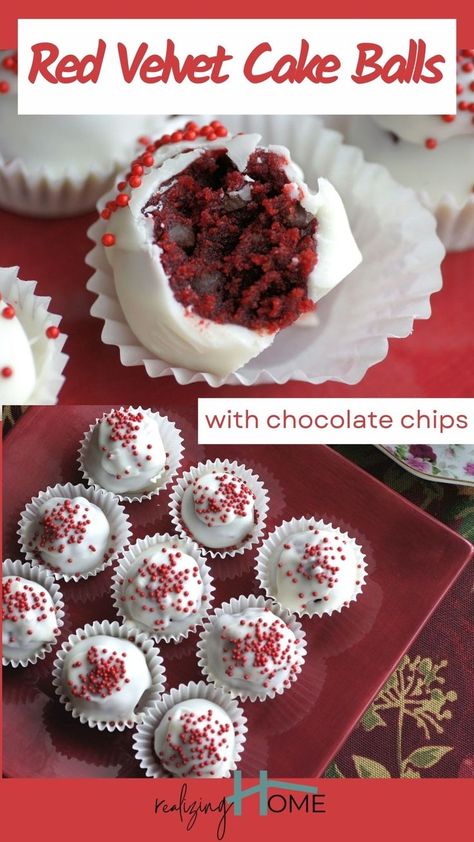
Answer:
<svg viewBox="0 0 474 842"><path fill-rule="evenodd" d="M211 471L186 488L181 519L199 544L211 549L237 547L253 532L255 495L234 474Z"/></svg>

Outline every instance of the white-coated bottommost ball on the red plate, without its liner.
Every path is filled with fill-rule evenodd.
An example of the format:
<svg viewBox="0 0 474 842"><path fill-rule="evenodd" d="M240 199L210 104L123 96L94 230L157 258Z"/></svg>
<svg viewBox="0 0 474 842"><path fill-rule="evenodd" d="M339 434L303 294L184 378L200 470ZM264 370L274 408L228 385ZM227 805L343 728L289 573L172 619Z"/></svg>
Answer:
<svg viewBox="0 0 474 842"><path fill-rule="evenodd" d="M207 699L179 702L154 736L161 765L175 778L223 778L232 764L235 732L228 714Z"/></svg>

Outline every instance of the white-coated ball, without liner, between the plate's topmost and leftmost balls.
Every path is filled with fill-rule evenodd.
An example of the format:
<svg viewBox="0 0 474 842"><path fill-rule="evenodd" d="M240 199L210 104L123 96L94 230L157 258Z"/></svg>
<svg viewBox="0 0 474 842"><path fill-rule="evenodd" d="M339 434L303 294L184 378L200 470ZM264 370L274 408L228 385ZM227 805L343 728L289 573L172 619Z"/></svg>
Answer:
<svg viewBox="0 0 474 842"><path fill-rule="evenodd" d="M100 566L110 554L110 525L84 497L51 497L38 507L28 550L52 570L74 575Z"/></svg>

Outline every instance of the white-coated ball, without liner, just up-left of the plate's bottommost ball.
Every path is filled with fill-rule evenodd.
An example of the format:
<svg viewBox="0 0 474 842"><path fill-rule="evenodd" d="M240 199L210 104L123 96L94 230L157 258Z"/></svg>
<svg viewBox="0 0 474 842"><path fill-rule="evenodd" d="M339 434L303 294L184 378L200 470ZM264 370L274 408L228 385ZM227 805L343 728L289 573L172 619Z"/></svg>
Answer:
<svg viewBox="0 0 474 842"><path fill-rule="evenodd" d="M94 635L76 643L63 663L63 690L93 721L123 722L151 687L141 649L130 640Z"/></svg>

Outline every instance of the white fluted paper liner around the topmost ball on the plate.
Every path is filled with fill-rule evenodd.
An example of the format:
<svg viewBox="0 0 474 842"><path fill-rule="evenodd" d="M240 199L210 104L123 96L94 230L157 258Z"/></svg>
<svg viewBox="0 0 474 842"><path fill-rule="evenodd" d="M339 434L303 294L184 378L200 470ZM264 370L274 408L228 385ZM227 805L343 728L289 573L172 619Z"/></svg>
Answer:
<svg viewBox="0 0 474 842"><path fill-rule="evenodd" d="M124 503L142 503L143 500L150 500L156 494L159 494L160 491L164 491L166 486L170 484L178 473L179 468L181 467L184 450L181 430L178 430L174 422L170 421L166 415L160 415L159 412L154 412L151 409L143 409L141 406L122 406L120 409L133 409L136 412L142 412L144 415L150 415L154 418L158 425L159 433L166 453L166 465L160 474L158 482L154 484L153 488L150 488L148 491L143 491L142 493L120 494L117 491L110 492ZM102 486L94 479L94 451L92 448L94 447L97 439L97 424L107 415L108 413L104 412L101 418L96 418L95 423L91 424L89 430L84 434L79 447L79 469L87 484L93 486L94 488L101 488ZM109 489L104 490L108 491Z"/></svg>

